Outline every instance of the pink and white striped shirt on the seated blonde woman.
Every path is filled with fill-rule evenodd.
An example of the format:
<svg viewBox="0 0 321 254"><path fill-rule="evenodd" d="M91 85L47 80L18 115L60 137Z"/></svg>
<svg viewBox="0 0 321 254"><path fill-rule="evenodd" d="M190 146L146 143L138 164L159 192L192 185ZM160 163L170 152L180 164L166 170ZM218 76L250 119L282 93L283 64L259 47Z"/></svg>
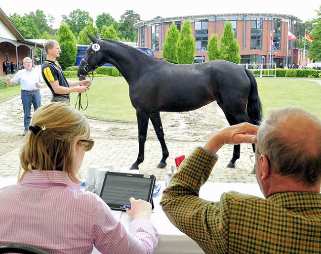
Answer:
<svg viewBox="0 0 321 254"><path fill-rule="evenodd" d="M96 194L61 171L33 171L0 189L0 243L30 244L51 254L154 253L160 235L134 219L126 231Z"/></svg>

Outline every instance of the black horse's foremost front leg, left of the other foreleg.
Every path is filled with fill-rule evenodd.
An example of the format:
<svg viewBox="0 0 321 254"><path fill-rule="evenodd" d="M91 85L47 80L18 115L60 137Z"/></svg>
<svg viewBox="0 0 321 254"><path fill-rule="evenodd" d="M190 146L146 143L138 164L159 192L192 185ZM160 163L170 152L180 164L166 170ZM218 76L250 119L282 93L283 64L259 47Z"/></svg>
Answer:
<svg viewBox="0 0 321 254"><path fill-rule="evenodd" d="M137 124L138 124L138 157L136 162L131 165L130 169L139 169L138 166L144 161L145 154L145 142L147 136L147 128L148 128L148 114L147 113L139 113L136 112Z"/></svg>

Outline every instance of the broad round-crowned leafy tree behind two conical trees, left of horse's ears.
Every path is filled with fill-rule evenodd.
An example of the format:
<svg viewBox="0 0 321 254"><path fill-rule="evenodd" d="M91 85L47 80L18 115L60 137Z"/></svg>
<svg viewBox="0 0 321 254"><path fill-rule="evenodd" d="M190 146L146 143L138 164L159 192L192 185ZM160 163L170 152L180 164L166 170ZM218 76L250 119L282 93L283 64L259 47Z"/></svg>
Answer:
<svg viewBox="0 0 321 254"><path fill-rule="evenodd" d="M80 9L73 10L69 13L69 16L62 15L64 23L69 25L73 34L78 37L80 31L85 27L88 21L93 22L93 19L89 16L89 12L82 11Z"/></svg>

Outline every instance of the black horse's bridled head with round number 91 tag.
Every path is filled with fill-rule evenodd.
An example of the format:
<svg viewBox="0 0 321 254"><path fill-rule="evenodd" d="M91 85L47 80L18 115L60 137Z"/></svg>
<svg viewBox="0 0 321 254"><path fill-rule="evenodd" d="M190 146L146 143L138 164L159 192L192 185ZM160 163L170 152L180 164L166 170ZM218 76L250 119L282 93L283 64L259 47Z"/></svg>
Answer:
<svg viewBox="0 0 321 254"><path fill-rule="evenodd" d="M85 56L80 61L78 67L78 76L87 76L90 71L97 69L105 63L104 53L101 52L100 48L100 36L96 32L96 37L91 36L87 33L91 44L87 48Z"/></svg>

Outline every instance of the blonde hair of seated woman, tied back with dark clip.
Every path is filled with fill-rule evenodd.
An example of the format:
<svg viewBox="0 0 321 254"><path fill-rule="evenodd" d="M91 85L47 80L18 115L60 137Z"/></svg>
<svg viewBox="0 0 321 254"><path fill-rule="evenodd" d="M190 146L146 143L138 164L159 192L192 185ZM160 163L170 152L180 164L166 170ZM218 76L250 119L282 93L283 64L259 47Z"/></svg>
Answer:
<svg viewBox="0 0 321 254"><path fill-rule="evenodd" d="M19 180L26 172L60 170L79 182L75 164L74 143L90 139L90 127L84 116L69 104L52 102L35 112L26 141L20 151Z"/></svg>

